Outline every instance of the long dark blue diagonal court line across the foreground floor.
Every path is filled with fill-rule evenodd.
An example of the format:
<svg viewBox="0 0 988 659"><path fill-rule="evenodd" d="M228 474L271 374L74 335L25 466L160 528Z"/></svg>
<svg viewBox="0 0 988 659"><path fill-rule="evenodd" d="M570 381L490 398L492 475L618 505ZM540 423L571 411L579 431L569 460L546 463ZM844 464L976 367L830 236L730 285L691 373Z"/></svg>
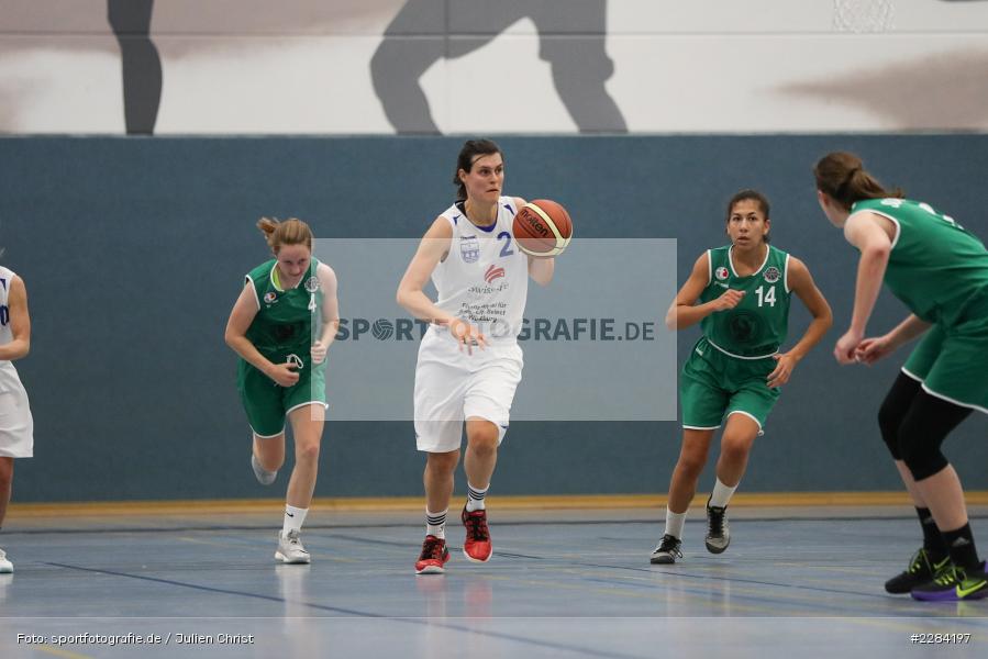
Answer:
<svg viewBox="0 0 988 659"><path fill-rule="evenodd" d="M486 637L490 637L490 638L498 638L501 640L511 640L514 643L520 643L520 644L534 646L534 647L547 648L547 649L552 649L552 650L565 650L568 652L587 655L589 657L603 657L606 659L648 659L648 657L641 656L641 655L625 655L622 652L601 652L601 651L591 650L588 648L581 648L579 646L569 646L569 645L565 645L565 644L549 643L549 641L545 641L545 640L536 640L536 639L532 639L532 638L525 638L523 636L514 636L512 634L506 634L502 632L487 632L487 630L480 630L480 629L471 629L469 627L465 627L463 625L457 625L457 624L437 623L431 618L396 618L396 617L389 617L386 615L380 615L377 613L368 613L366 611L341 608L337 606L326 606L324 604L314 604L311 602L289 602L288 600L285 600L284 597L276 597L274 595L262 595L258 593L248 593L248 592L244 592L244 591L234 591L234 590L222 589L222 588L213 588L210 585L185 583L182 581L174 581L171 579L160 579L157 577L145 577L142 574L130 574L127 572L118 572L115 570L103 570L103 569L99 569L99 568L84 568L82 566L70 566L70 565L57 563L57 562L43 562L42 565L53 566L56 568L63 568L66 570L79 570L82 572L95 572L97 574L109 574L111 577L123 577L125 579L137 579L140 581L151 581L152 583L163 583L165 585L177 585L179 588L189 588L192 590L199 590L199 591L211 592L211 593L220 593L220 594L224 594L224 595L237 595L241 597L266 600L269 602L279 602L281 604L289 604L289 603L301 604L301 605L308 606L310 608L317 608L320 611L329 611L332 613L344 613L346 615L353 615L356 617L391 621L391 622L396 622L396 623L407 623L407 624L412 624L412 625L424 625L426 627L429 627L429 626L442 627L444 629L451 629L453 632L475 634L477 636L486 636Z"/></svg>

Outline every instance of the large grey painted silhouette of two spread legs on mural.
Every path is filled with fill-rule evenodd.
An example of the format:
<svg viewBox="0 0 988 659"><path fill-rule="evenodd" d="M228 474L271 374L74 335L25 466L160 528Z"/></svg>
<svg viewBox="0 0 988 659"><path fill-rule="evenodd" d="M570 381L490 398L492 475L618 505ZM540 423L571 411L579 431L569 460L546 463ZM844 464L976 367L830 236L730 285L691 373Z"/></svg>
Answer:
<svg viewBox="0 0 988 659"><path fill-rule="evenodd" d="M466 21L463 31L453 18ZM408 0L370 62L374 90L395 130L439 133L419 83L422 75L440 59L477 51L525 18L539 30L539 55L552 65L556 91L579 131L626 132L624 116L604 88L614 71L604 49L607 0ZM468 36L451 38L451 23Z"/></svg>

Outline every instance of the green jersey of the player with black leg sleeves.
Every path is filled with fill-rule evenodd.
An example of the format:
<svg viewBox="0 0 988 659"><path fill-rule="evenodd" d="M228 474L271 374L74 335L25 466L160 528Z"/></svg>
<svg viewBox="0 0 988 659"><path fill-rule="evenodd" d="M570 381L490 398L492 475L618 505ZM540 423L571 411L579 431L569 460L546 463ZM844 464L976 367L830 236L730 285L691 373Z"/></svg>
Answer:
<svg viewBox="0 0 988 659"><path fill-rule="evenodd" d="M964 305L988 290L988 250L977 237L929 204L868 199L851 214L869 211L896 224L885 283L912 313L952 325Z"/></svg>

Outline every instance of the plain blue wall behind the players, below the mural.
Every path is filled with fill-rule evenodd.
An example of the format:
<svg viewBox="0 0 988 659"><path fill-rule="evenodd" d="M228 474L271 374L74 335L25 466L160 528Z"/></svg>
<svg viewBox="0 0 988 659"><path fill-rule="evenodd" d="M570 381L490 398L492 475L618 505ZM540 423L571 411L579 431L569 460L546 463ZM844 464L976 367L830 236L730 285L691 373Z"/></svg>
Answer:
<svg viewBox="0 0 988 659"><path fill-rule="evenodd" d="M830 356L850 317L855 253L820 213L810 168L828 150L856 150L885 182L988 236L988 136L499 142L509 193L563 201L581 237L678 238L680 280L703 249L724 242L723 206L735 190L768 193L774 244L808 264L835 328L796 371L743 487L900 487L875 413L904 353L872 369L839 368ZM33 320L32 354L18 368L35 415L36 457L18 463L15 500L280 495L257 485L247 466L235 358L222 338L242 275L267 257L254 222L295 215L320 237L418 237L448 204L460 143L0 139L0 245L3 263L27 283ZM808 316L798 303L793 310L796 338ZM873 332L904 313L886 294ZM682 333L680 355L696 336ZM985 429L976 414L946 445L968 489L988 489ZM317 495L421 492L410 424L330 423L323 447ZM517 423L495 489L664 492L678 447L675 423Z"/></svg>

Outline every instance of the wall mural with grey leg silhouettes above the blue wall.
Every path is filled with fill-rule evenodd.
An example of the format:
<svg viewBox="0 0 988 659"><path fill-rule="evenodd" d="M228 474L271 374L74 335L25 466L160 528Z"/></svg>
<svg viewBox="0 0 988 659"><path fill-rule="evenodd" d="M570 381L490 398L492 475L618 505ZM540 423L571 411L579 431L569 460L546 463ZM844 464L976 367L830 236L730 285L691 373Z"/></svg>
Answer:
<svg viewBox="0 0 988 659"><path fill-rule="evenodd" d="M979 1L7 0L0 132L985 131L986 36Z"/></svg>

